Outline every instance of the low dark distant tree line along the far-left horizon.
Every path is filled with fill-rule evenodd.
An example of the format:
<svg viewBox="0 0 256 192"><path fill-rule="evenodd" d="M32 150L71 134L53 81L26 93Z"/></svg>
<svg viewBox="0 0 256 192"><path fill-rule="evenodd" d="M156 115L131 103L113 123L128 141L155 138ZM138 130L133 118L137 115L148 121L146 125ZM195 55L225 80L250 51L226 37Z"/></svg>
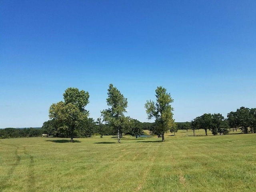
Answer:
<svg viewBox="0 0 256 192"><path fill-rule="evenodd" d="M0 138L20 138L42 136L40 128L5 128L0 129Z"/></svg>

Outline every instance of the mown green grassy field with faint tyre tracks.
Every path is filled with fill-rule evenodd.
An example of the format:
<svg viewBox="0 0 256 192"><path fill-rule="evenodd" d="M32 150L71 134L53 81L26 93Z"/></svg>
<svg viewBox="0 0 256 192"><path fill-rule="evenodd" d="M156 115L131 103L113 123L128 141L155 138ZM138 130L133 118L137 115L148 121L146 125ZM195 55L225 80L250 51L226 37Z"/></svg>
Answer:
<svg viewBox="0 0 256 192"><path fill-rule="evenodd" d="M204 130L202 131L204 134ZM0 191L246 192L256 189L256 134L0 140ZM210 133L209 133L210 134Z"/></svg>

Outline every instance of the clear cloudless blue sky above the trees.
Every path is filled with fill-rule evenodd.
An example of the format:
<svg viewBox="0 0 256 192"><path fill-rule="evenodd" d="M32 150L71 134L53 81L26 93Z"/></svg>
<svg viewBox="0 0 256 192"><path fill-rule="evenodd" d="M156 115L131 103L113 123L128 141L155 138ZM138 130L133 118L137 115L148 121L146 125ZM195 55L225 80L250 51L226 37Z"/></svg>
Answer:
<svg viewBox="0 0 256 192"><path fill-rule="evenodd" d="M157 86L176 122L255 108L256 1L0 1L0 128L42 126L68 87L96 119L110 83L142 122Z"/></svg>

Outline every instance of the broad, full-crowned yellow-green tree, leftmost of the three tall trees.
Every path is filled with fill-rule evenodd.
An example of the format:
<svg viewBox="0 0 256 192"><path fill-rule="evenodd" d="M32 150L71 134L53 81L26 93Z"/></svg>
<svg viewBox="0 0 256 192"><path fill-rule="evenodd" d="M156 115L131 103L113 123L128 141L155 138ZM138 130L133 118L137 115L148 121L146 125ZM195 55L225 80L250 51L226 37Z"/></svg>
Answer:
<svg viewBox="0 0 256 192"><path fill-rule="evenodd" d="M49 109L49 118L58 125L57 130L64 132L73 142L75 130L79 129L81 122L88 117L89 112L85 106L89 103L89 93L78 88L65 90L64 102L52 104Z"/></svg>

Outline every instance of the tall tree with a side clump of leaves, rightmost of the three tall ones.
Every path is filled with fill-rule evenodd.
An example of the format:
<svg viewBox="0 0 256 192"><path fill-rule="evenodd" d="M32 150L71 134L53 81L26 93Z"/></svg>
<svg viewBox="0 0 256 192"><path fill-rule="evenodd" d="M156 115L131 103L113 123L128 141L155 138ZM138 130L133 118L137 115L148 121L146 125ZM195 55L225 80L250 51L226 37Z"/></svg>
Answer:
<svg viewBox="0 0 256 192"><path fill-rule="evenodd" d="M162 86L156 88L156 102L147 100L145 104L148 119L155 118L156 127L162 135L164 142L164 133L166 133L174 124L173 108L170 103L173 102L170 93Z"/></svg>

